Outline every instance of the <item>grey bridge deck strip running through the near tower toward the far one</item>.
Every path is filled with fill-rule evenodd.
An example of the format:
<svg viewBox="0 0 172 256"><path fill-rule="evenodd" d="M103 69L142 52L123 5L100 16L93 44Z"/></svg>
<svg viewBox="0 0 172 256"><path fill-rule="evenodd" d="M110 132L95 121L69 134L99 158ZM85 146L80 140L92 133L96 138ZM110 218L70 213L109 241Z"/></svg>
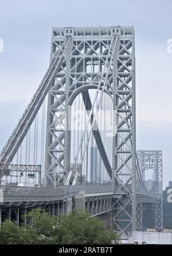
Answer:
<svg viewBox="0 0 172 256"><path fill-rule="evenodd" d="M36 187L18 187L0 185L0 204L5 202L41 202L41 201L59 201L75 194L84 193L85 197L99 197L103 195L112 195L118 198L123 191L117 191L112 185L77 185L64 186L57 189L36 188ZM155 201L155 194L146 191L137 191L137 201L147 200Z"/></svg>

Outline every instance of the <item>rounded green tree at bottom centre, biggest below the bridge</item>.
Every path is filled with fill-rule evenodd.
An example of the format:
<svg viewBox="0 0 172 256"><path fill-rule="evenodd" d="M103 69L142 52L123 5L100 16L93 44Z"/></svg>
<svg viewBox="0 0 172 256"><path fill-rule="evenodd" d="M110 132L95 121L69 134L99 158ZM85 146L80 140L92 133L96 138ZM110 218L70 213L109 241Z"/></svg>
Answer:
<svg viewBox="0 0 172 256"><path fill-rule="evenodd" d="M62 216L55 232L59 244L112 244L120 241L103 221L80 210Z"/></svg>

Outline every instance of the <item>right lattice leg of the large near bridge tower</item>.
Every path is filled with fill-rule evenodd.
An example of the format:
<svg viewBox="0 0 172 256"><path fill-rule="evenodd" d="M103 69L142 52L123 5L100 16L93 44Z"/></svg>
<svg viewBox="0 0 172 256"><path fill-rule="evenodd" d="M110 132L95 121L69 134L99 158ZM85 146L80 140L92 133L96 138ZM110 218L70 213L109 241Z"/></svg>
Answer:
<svg viewBox="0 0 172 256"><path fill-rule="evenodd" d="M135 51L131 36L120 37L114 59L113 180L122 198L114 205L115 230L135 230ZM116 125L115 125L116 123Z"/></svg>

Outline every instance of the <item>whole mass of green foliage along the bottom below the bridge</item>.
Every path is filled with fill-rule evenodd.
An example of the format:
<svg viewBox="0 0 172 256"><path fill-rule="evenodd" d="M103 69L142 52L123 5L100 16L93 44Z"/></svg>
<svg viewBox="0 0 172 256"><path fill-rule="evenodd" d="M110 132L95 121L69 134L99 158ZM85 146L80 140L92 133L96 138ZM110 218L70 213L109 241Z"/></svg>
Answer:
<svg viewBox="0 0 172 256"><path fill-rule="evenodd" d="M68 215L50 217L40 208L27 214L30 226L24 227L12 221L2 223L0 244L112 244L120 239L103 221L77 210Z"/></svg>

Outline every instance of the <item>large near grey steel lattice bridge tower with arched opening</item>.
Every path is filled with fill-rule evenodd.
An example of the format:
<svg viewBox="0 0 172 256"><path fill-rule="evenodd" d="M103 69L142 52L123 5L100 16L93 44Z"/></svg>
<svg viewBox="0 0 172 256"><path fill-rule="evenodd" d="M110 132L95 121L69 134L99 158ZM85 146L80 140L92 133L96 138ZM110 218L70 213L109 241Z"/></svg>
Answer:
<svg viewBox="0 0 172 256"><path fill-rule="evenodd" d="M88 120L93 125L96 112L92 111L88 89L105 92L113 105L112 166L99 130L93 131L93 135L116 193L119 193L114 205L115 229L135 230L134 28L53 28L51 59L67 37L71 40L65 51L65 59L56 70L48 95L45 186L56 186L57 183L68 185L72 175L69 170L70 106L73 100L79 93L82 94L85 109L90 111ZM97 98L99 102L99 94ZM83 155L84 150L80 161ZM76 170L73 175L77 176Z"/></svg>

